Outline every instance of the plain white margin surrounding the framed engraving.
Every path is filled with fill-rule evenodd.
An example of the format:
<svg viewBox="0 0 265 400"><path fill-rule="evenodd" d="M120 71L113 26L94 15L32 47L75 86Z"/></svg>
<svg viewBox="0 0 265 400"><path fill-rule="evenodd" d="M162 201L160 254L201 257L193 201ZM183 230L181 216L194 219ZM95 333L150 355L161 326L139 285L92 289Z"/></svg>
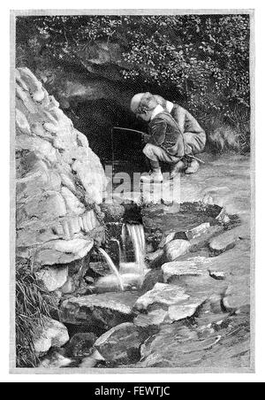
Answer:
<svg viewBox="0 0 265 400"><path fill-rule="evenodd" d="M60 3L60 4L59 4ZM79 4L81 3L81 4ZM79 5L80 8L86 8L87 7L87 2L75 2L75 6ZM98 4L99 2L97 2ZM102 8L107 8L108 4L106 4L107 2L104 2L105 4L102 6ZM111 7L112 8L120 8L120 7L125 7L125 3L124 2L118 2L119 4L117 4L117 2L111 2ZM137 2L134 1L133 2L133 6L135 8L139 7L139 3L142 4L142 2ZM150 4L151 3L151 4ZM145 2L145 4L148 7L157 7L157 8L161 8L161 4L155 4L157 2L152 1L152 2ZM173 8L174 6L176 6L175 4L173 4L174 2L163 2L163 4L166 4L166 8ZM169 4L170 3L170 4ZM21 9L21 4L19 4L19 2L14 2L11 1L9 2L11 9ZM33 9L35 6L34 2L29 2L29 1L25 1L23 2L24 4L24 9ZM63 9L65 7L65 2L50 2L49 0L47 0L44 4L45 8L49 8L49 7L53 7L56 4L57 8ZM141 5L140 4L140 5ZM131 5L131 4L130 4ZM190 7L191 9L193 7L198 7L198 3L196 2L190 2L190 1L186 1L185 2L186 7ZM211 8L213 6L212 2L206 2L206 1L201 1L200 2L201 7L203 8ZM215 4L217 6L217 4ZM42 6L40 4L40 2L38 3L38 6ZM256 49L258 50L259 53L259 60L261 61L261 53L263 53L263 37L264 37L264 32L262 32L262 30L264 29L264 15L263 15L263 6L260 6L260 4L258 4L258 2L256 1L252 1L251 4L246 4L246 2L244 1L240 1L240 2L234 2L234 1L223 1L222 4L222 9L224 7L227 7L229 9L231 8L237 8L240 7L240 9L242 9L242 7L246 7L246 9L249 9L251 6L252 8L256 8L256 32L258 31L258 34L256 34L256 38L255 38L255 43L256 43ZM128 7L129 8L129 7ZM2 90L4 90L5 96L1 96L1 110L4 110L3 115L8 116L8 112L9 112L9 104L7 101L7 97L8 97L8 75L9 75L9 65L7 63L7 60L9 59L9 43L8 43L8 24L9 24L9 9L4 10L4 13L2 12L2 16L4 17L3 23L1 23L1 29L3 32L1 32L0 37L5 39L5 43L4 46L1 46L1 52L2 52L2 65L1 65L1 72L4 71L4 74L2 73L0 76L2 76ZM262 54L263 57L263 54ZM5 62L6 60L6 62ZM260 64L261 65L261 64ZM257 173L257 181L264 181L264 176L263 176L263 171L264 171L264 166L263 166L263 159L264 159L264 154L263 154L263 149L265 148L264 146L264 133L263 133L263 129L264 129L264 124L263 124L263 104L264 104L264 96L262 92L262 88L263 88L263 68L261 68L261 66L256 68L257 70L257 78L256 81L258 81L258 86L257 86L257 96L256 96L256 113L257 113L257 132L259 133L258 137L256 137L256 141L258 142L257 145L257 154L256 154L256 160L257 160L257 166L259 167L259 165L261 166L260 168L260 172L258 171ZM4 78L4 76L6 78ZM5 106L4 106L5 104ZM6 107L6 110L5 110ZM7 120L5 124L2 125L3 130L2 130L2 142L3 146L6 145L6 150L4 150L2 152L1 155L1 171L4 173L8 172L9 169L9 161L8 161L8 148L9 148L9 137L7 135L7 132L9 132L9 121ZM261 164L262 163L262 164ZM263 171L262 171L263 170ZM262 173L262 174L261 174ZM7 179L6 179L7 178ZM8 175L7 177L3 177L2 179L2 183L5 186L5 183L7 183L6 186L8 186ZM259 188L257 189L258 192L258 197L260 197L262 195L262 189ZM7 192L8 193L8 192ZM9 225L9 219L8 219L8 215L7 215L7 210L9 207L9 198L8 196L2 196L1 197L1 209L2 211L4 210L4 215L5 218L1 219L2 221L4 220L3 223L3 227L2 227L2 232L1 232L1 244L2 244L2 249L6 249L8 248L8 225ZM261 241L259 240L258 242L261 242L261 246L263 244L262 241L262 233L263 233L263 227L264 224L263 222L263 218L264 218L264 211L263 211L263 204L258 204L257 206L257 215L259 216L258 221L257 221L257 234L259 235L259 233L261 234ZM264 293L264 267L263 267L263 251L262 251L262 247L260 248L260 250L257 250L257 271L258 271L258 279L257 279L257 294L258 294L258 301L257 301L257 305L256 305L256 311L258 315L262 315L263 314L263 307L264 307L264 299L262 298L262 294ZM6 334L5 330L3 329L3 327L5 326L8 332L8 282L9 282L9 273L8 273L8 255L7 257L5 257L5 252L2 258L2 268L3 268L3 272L2 272L2 276L3 279L1 279L1 282L3 283L3 286L0 290L0 295L1 295L1 304L2 304L2 311L1 311L1 343L2 343L2 354L1 354L1 379L5 379L5 381L140 381L140 376L136 375L134 376L133 374L131 375L122 375L122 376L117 376L117 375L104 375L103 379L102 376L95 376L95 375L90 375L90 376L78 376L78 375L74 375L72 377L69 376L49 376L49 378L47 379L47 376L25 376L25 375L19 375L19 376L10 376L8 375L7 371L8 371L8 349L7 349L7 345L5 346L4 343L7 344L8 342L8 333ZM5 279L7 277L7 279ZM4 296L2 298L2 296ZM7 312L6 312L7 311ZM262 320L263 320L263 316L262 316ZM181 375L180 377L176 374L174 374L173 376L171 374L168 375L145 375L144 376L144 381L264 381L264 367L263 367L263 356L264 356L264 340L263 340L263 335L264 335L264 323L261 324L261 319L259 319L259 323L258 326L259 328L256 331L256 336L257 336L257 373L255 375L239 375L239 374L234 374L234 375L230 375L230 374L225 374L225 375Z"/></svg>

